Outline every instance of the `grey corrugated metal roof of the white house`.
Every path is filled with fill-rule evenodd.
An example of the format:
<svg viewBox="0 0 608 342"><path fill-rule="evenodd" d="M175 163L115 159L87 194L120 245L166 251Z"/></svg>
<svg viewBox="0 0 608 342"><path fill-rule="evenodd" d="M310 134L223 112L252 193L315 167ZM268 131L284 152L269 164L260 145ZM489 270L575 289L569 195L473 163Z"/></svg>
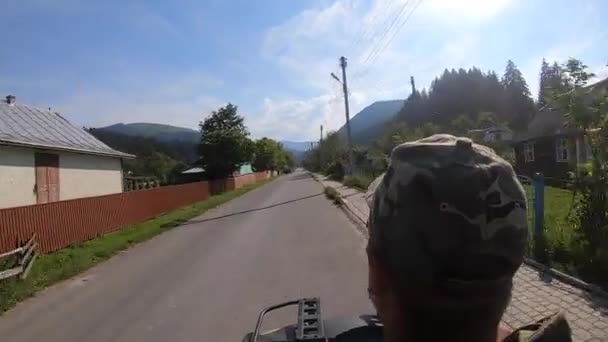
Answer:
<svg viewBox="0 0 608 342"><path fill-rule="evenodd" d="M9 104L4 100L0 101L0 144L135 157L112 149L58 113L17 103Z"/></svg>

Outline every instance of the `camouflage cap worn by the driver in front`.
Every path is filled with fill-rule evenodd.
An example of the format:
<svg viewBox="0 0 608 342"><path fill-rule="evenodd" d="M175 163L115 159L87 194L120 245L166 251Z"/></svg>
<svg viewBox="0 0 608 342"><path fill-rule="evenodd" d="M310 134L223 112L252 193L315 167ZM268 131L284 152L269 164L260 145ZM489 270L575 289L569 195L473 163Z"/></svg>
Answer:
<svg viewBox="0 0 608 342"><path fill-rule="evenodd" d="M523 261L524 190L508 162L468 138L397 146L366 196L369 246L403 286L510 286Z"/></svg>

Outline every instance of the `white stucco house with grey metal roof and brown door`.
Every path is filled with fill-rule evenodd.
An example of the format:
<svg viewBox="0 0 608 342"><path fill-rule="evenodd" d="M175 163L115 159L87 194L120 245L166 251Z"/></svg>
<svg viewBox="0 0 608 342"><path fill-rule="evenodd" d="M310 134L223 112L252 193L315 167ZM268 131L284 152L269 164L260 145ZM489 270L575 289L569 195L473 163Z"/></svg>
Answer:
<svg viewBox="0 0 608 342"><path fill-rule="evenodd" d="M0 101L0 208L122 192L131 158L58 113Z"/></svg>

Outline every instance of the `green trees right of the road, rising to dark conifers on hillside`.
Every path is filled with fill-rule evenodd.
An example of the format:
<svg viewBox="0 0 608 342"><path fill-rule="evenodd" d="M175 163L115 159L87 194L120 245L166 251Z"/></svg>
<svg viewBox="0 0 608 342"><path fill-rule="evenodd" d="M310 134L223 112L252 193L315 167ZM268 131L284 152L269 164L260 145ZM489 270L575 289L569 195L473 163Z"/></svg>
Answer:
<svg viewBox="0 0 608 342"><path fill-rule="evenodd" d="M468 136L479 142L480 130L504 127L516 134L527 129L539 110L548 106L550 94L564 81L564 65L543 59L539 73L539 95L533 99L528 83L511 60L499 77L494 71L445 69L428 90L416 88L410 78L412 92L401 110L385 124L381 133L368 146L354 148L355 169L363 175L362 185L384 171L392 149L403 142L435 133ZM488 143L486 143L488 144ZM512 149L504 144L491 144L503 158L514 162ZM323 142L309 151L304 165L314 171L344 171L346 145L329 133Z"/></svg>

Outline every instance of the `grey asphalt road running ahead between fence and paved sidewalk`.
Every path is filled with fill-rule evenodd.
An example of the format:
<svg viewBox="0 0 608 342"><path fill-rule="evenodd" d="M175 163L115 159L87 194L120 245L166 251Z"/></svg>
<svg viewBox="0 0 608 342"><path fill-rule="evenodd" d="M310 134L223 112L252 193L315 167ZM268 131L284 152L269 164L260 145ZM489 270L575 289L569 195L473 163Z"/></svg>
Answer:
<svg viewBox="0 0 608 342"><path fill-rule="evenodd" d="M364 238L322 190L283 176L21 303L0 340L240 341L263 307L307 296L324 317L369 313Z"/></svg>

